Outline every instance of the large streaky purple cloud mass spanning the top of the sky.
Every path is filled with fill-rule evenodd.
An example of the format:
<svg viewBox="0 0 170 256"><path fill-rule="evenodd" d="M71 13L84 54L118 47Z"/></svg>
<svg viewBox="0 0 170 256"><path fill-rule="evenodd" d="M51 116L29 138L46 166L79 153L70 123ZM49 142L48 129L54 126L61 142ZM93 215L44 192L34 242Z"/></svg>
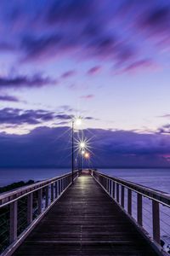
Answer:
<svg viewBox="0 0 170 256"><path fill-rule="evenodd" d="M170 3L164 0L51 0L33 5L14 1L10 8L8 3L0 3L0 9L2 38L5 36L0 50L17 49L26 63L69 56L78 61L99 61L99 65L109 61L128 72L141 59L155 60L141 47L141 40L150 44L148 38L155 34L156 42L170 41ZM89 71L95 72L97 69Z"/></svg>

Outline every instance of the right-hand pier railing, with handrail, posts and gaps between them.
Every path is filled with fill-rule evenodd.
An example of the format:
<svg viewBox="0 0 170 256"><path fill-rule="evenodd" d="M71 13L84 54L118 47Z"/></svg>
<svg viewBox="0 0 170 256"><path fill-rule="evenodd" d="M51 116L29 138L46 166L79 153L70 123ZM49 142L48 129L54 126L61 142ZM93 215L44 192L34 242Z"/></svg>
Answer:
<svg viewBox="0 0 170 256"><path fill-rule="evenodd" d="M93 170L91 175L151 241L153 247L162 251L166 237L170 243L169 194ZM170 252L170 247L164 246L164 249Z"/></svg>

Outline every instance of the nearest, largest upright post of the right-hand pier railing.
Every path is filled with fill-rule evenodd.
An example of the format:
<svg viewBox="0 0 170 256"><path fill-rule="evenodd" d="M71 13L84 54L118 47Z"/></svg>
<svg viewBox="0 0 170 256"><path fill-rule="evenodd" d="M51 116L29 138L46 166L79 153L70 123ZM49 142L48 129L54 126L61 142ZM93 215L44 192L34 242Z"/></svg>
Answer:
<svg viewBox="0 0 170 256"><path fill-rule="evenodd" d="M159 203L152 200L153 239L160 244L160 211Z"/></svg>

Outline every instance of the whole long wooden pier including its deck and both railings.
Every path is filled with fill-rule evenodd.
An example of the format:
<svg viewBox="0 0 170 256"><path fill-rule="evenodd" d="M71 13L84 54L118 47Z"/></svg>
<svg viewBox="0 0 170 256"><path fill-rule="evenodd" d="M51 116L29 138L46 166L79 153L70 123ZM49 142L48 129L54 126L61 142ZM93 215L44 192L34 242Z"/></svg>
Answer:
<svg viewBox="0 0 170 256"><path fill-rule="evenodd" d="M143 226L144 197L152 206L152 236ZM169 255L161 247L160 206L169 209L169 195L94 170L74 172L73 184L71 173L54 177L0 195L10 215L1 255Z"/></svg>

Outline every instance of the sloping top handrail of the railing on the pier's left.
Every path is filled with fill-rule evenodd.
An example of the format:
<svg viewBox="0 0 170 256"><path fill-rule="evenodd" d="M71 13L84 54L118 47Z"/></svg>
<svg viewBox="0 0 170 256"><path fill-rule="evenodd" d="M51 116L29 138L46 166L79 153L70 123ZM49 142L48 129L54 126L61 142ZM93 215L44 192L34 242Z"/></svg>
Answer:
<svg viewBox="0 0 170 256"><path fill-rule="evenodd" d="M78 170L75 170L74 172L76 173L76 172L78 172ZM10 204L11 201L18 200L21 197L24 197L40 188L44 188L44 187L48 186L49 184L62 179L63 177L68 177L69 175L71 175L71 172L67 172L60 176L48 178L48 179L42 180L37 183L26 185L24 187L3 193L2 195L0 194L0 207L3 207L3 203L5 205Z"/></svg>

